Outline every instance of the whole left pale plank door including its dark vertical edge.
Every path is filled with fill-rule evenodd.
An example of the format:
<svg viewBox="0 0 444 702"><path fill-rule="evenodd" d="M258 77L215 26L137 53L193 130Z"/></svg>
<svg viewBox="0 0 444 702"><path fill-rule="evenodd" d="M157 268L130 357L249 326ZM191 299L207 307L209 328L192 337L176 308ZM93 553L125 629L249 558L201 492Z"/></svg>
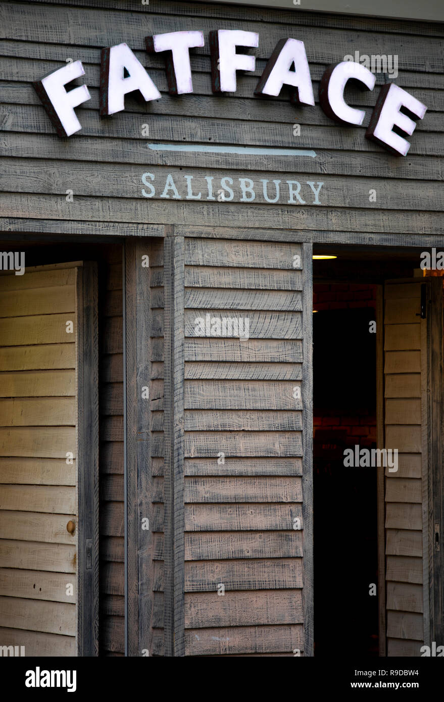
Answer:
<svg viewBox="0 0 444 702"><path fill-rule="evenodd" d="M0 276L0 343L0 645L94 655L95 268Z"/></svg>

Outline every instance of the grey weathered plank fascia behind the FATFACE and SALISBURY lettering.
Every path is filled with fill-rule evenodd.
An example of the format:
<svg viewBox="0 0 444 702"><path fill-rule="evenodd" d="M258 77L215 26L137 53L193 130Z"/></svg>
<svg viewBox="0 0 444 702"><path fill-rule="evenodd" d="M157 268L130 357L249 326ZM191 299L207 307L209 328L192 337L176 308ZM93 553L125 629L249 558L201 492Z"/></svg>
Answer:
<svg viewBox="0 0 444 702"><path fill-rule="evenodd" d="M23 218L32 218L38 230L54 229L57 223L59 232L77 227L77 232L112 229L131 234L149 232L150 223L232 227L254 217L258 230L297 227L306 240L322 240L331 232L440 234L443 230L439 211L444 131L441 25L316 15L300 8L286 12L158 0L147 5L130 0L122 8L110 0L2 2L0 19L1 37L6 39L0 57L2 147L7 157L0 174L0 187L7 192L4 226L29 228ZM255 74L239 75L237 92L223 97L212 95L209 75L208 32L217 28L245 28L260 35ZM206 37L206 46L192 56L195 93L181 98L166 93L162 57L144 51L146 35L177 29L202 29ZM428 107L411 138L408 156L390 156L364 137L378 89L360 93L347 88L352 104L368 108L363 128L335 125L318 102L315 107L296 108L285 89L280 98L254 97L258 77L282 37L305 42L316 101L318 82L330 62L354 51L396 55L396 83ZM122 41L148 67L162 99L145 106L127 98L124 113L101 119L100 48ZM64 65L68 58L84 62L92 99L77 110L81 132L60 140L31 81ZM384 75L377 74L377 83L384 81ZM145 124L148 136L143 135ZM301 128L298 136L294 124ZM315 150L316 157L148 148L157 142L305 148ZM248 171L256 183L253 204L239 202L237 178ZM152 199L143 197L145 172L155 176ZM181 199L174 199L171 191L168 199L160 197L170 172ZM187 174L194 177L192 192L202 191L200 201L185 201L183 176ZM204 175L214 176L214 201L206 199ZM233 177L235 197L218 201L220 178L227 175ZM288 204L285 180L289 176L302 183L306 204L297 200ZM277 204L264 199L261 177L282 181ZM307 180L324 183L320 204L313 204ZM272 198L273 183L268 188ZM376 201L370 201L373 189ZM65 201L66 190L73 190L72 202ZM150 192L148 187L145 191ZM129 223L126 232L124 223Z"/></svg>

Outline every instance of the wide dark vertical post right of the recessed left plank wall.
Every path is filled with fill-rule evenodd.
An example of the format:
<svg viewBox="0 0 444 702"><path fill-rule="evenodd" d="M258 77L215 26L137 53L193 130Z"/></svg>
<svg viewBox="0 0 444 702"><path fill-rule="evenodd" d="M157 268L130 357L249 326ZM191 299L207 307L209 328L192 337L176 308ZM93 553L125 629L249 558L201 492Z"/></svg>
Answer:
<svg viewBox="0 0 444 702"><path fill-rule="evenodd" d="M152 459L150 451L150 242L126 240L124 254L126 654L152 655ZM148 519L148 523L144 522ZM146 528L148 526L148 528ZM144 527L144 528L143 528Z"/></svg>

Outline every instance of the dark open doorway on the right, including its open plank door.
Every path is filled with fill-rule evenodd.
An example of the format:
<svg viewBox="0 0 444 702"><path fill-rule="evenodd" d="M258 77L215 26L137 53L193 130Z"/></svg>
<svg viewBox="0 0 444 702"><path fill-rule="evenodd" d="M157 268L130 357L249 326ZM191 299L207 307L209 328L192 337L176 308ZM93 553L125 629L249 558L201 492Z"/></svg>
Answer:
<svg viewBox="0 0 444 702"><path fill-rule="evenodd" d="M443 384L443 303L420 253L313 249L337 256L313 260L315 656L420 656L429 640L424 505L440 465L428 437L442 412L429 388ZM396 471L361 459L389 447Z"/></svg>

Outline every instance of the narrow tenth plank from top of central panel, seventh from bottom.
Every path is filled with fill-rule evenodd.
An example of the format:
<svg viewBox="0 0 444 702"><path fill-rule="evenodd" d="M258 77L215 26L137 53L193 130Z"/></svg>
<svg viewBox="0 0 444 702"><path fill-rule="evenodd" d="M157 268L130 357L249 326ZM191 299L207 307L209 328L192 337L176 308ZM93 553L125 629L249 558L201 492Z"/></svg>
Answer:
<svg viewBox="0 0 444 702"><path fill-rule="evenodd" d="M302 475L300 458L186 458L185 475Z"/></svg>

